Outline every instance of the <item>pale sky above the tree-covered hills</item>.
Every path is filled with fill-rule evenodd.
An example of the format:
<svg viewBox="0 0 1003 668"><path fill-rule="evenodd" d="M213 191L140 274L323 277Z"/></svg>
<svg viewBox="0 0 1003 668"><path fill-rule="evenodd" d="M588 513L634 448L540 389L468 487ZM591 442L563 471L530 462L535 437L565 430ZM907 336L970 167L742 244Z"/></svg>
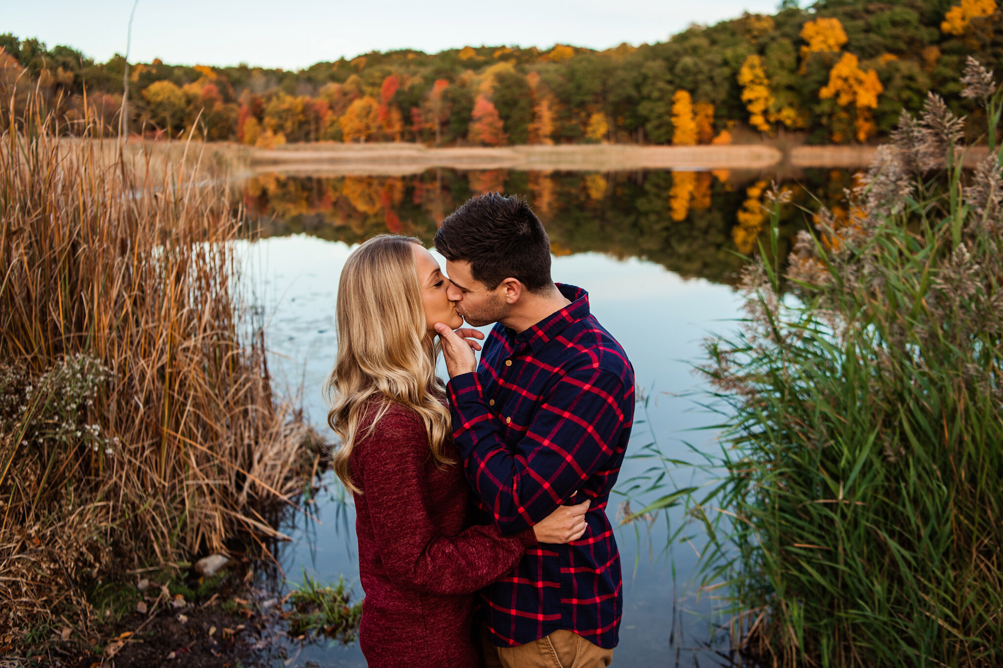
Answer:
<svg viewBox="0 0 1003 668"><path fill-rule="evenodd" d="M603 49L663 41L691 23L778 0L139 0L132 62L299 69L322 60L399 48L434 53L467 44ZM0 0L0 33L66 44L95 60L125 52L132 0Z"/></svg>

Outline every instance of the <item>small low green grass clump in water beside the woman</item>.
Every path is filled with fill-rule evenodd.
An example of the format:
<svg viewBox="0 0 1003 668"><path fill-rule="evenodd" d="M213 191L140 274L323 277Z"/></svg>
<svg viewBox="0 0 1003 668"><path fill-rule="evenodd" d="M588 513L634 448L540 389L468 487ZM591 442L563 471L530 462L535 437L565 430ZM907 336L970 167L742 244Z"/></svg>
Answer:
<svg viewBox="0 0 1003 668"><path fill-rule="evenodd" d="M322 633L346 645L351 643L362 619L362 602L353 604L351 597L344 578L339 576L334 587L324 586L304 571L303 582L295 585L288 597L293 605L290 633Z"/></svg>

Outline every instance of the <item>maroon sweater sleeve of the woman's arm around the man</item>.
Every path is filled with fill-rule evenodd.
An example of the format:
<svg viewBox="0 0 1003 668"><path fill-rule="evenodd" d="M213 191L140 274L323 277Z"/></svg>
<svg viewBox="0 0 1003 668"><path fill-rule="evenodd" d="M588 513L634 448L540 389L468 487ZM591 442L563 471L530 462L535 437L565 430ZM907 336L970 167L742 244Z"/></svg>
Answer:
<svg viewBox="0 0 1003 668"><path fill-rule="evenodd" d="M533 530L504 537L492 525L446 537L432 523L425 478L428 443L416 415L391 409L358 452L366 507L387 576L398 587L470 594L511 572Z"/></svg>

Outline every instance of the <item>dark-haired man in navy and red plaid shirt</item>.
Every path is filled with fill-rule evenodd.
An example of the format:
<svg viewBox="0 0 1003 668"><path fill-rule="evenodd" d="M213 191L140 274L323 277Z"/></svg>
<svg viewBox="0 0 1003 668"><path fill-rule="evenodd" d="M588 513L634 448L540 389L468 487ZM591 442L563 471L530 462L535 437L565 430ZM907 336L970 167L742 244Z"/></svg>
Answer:
<svg viewBox="0 0 1003 668"><path fill-rule="evenodd" d="M436 325L475 521L515 534L560 506L592 502L580 540L528 550L481 592L485 662L607 666L623 581L606 507L634 417L633 368L588 294L551 279L550 240L525 201L469 200L442 222L435 248L466 322L496 323L479 368L479 345L461 336L483 335Z"/></svg>

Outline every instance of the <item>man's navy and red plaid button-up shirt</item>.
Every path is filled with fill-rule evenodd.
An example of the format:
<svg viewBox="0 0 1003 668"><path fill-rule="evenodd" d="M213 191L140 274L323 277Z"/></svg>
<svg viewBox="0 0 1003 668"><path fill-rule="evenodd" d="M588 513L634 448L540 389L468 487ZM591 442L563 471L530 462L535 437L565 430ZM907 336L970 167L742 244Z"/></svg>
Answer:
<svg viewBox="0 0 1003 668"><path fill-rule="evenodd" d="M558 287L571 304L520 334L495 325L477 372L449 381L453 435L479 497L474 522L512 535L592 499L581 539L527 550L480 593L491 641L513 647L567 629L613 648L623 580L606 506L634 419L634 369L588 293Z"/></svg>

